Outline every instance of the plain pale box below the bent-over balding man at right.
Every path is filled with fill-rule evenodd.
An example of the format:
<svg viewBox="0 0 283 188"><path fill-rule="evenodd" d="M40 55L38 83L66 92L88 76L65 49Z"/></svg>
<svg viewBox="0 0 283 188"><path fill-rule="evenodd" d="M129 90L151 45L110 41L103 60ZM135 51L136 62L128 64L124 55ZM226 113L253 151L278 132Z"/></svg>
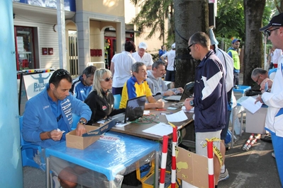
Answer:
<svg viewBox="0 0 283 188"><path fill-rule="evenodd" d="M265 117L267 113L267 106L263 106L257 110L255 114L246 110L245 114L245 132L255 134L265 134Z"/></svg>

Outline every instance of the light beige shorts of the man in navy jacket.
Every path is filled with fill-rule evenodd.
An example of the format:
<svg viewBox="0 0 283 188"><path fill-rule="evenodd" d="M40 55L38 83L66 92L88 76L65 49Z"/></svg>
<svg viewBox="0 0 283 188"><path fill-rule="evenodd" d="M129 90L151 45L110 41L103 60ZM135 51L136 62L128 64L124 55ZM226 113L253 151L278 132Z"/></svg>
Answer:
<svg viewBox="0 0 283 188"><path fill-rule="evenodd" d="M207 146L204 148L202 146L206 143L206 139L212 139L213 137L220 139L220 133L221 130L214 132L196 132L196 154L207 157ZM213 141L213 145L220 150L220 141Z"/></svg>

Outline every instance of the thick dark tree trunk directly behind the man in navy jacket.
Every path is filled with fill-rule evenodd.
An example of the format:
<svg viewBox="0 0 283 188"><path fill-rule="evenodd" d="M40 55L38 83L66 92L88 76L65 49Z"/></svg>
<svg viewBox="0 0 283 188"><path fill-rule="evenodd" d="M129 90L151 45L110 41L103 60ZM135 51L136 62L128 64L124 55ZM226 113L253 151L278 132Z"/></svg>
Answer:
<svg viewBox="0 0 283 188"><path fill-rule="evenodd" d="M174 0L176 42L175 87L194 81L197 62L187 52L188 40L194 33L209 33L209 8L206 0Z"/></svg>

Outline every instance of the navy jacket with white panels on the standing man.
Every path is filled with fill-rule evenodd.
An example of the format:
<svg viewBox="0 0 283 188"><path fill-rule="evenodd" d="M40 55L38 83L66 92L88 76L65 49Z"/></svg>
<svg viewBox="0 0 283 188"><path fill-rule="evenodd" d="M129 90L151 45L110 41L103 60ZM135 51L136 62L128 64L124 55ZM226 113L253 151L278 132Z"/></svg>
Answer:
<svg viewBox="0 0 283 188"><path fill-rule="evenodd" d="M225 127L227 114L226 71L210 50L194 78L194 126L196 132L219 131Z"/></svg>

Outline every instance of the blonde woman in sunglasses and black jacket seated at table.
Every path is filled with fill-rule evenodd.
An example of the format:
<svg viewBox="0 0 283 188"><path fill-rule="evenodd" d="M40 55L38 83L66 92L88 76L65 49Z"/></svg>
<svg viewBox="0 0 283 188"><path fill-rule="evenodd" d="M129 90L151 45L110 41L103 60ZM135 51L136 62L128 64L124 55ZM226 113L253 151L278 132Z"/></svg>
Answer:
<svg viewBox="0 0 283 188"><path fill-rule="evenodd" d="M110 92L113 77L108 69L97 69L94 74L94 86L84 102L89 105L92 112L88 124L93 124L100 119L125 112L125 109L114 109L114 97Z"/></svg>

